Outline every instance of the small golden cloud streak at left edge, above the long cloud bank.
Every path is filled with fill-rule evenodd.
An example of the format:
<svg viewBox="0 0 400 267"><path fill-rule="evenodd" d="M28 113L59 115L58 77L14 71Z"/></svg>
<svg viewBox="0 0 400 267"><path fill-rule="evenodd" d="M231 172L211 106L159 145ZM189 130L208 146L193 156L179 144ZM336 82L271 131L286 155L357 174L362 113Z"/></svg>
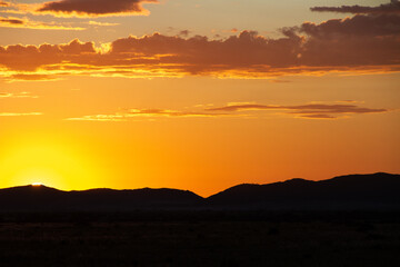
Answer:
<svg viewBox="0 0 400 267"><path fill-rule="evenodd" d="M36 30L84 30L81 27L70 27L56 22L32 21L27 18L3 18L0 17L0 28L22 28Z"/></svg>

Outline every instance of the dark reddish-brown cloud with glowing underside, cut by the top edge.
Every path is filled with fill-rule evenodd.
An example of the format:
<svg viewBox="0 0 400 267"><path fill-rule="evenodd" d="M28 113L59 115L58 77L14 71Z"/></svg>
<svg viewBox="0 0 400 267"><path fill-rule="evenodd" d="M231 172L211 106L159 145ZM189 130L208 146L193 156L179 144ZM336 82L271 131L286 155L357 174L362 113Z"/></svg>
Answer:
<svg viewBox="0 0 400 267"><path fill-rule="evenodd" d="M41 3L34 12L56 17L149 14L143 3L158 3L158 0L60 0Z"/></svg>

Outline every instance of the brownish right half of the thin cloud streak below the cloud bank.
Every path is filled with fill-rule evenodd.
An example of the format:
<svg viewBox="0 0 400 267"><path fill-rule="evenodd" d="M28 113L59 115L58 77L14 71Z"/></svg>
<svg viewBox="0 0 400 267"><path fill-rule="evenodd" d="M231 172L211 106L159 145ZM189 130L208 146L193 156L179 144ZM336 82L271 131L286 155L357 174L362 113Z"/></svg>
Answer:
<svg viewBox="0 0 400 267"><path fill-rule="evenodd" d="M242 112L242 111L260 111L260 110L281 110L287 115L299 116L302 118L334 119L344 115L357 113L381 113L388 112L387 109L363 108L356 105L327 105L327 103L309 103L300 106L281 106L281 105L228 105L219 108L208 108L207 111L223 112Z"/></svg>

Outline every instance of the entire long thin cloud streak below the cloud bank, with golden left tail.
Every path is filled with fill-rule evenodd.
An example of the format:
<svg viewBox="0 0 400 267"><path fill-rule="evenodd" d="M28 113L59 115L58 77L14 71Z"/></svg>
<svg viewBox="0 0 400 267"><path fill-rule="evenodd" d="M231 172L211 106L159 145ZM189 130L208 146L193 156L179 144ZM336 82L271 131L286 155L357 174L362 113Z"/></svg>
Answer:
<svg viewBox="0 0 400 267"><path fill-rule="evenodd" d="M218 117L240 117L254 118L260 117L260 111L280 111L293 118L307 119L337 119L357 113L382 113L388 112L387 109L363 108L354 105L323 105L309 103L300 106L283 105L259 105L259 103L228 103L219 108L208 108L213 105L197 105L197 110L181 111L168 109L130 109L123 112L110 115L88 115L77 118L68 118L66 120L77 121L129 121L133 118L218 118ZM204 108L206 107L206 108ZM202 108L199 110L199 108Z"/></svg>

